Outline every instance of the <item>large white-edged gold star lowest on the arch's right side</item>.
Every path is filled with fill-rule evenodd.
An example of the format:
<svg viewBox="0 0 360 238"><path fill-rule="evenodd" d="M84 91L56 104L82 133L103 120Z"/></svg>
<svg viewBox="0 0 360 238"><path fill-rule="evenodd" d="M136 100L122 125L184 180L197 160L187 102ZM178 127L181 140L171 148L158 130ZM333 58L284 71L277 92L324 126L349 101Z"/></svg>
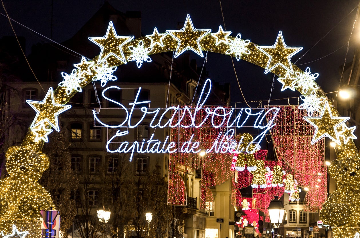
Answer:
<svg viewBox="0 0 360 238"><path fill-rule="evenodd" d="M315 127L315 133L314 137L312 137L311 144L314 144L324 136L327 136L340 144L339 134L336 128L350 118L347 116L333 116L328 102L325 102L320 116L304 116L304 119Z"/></svg>

